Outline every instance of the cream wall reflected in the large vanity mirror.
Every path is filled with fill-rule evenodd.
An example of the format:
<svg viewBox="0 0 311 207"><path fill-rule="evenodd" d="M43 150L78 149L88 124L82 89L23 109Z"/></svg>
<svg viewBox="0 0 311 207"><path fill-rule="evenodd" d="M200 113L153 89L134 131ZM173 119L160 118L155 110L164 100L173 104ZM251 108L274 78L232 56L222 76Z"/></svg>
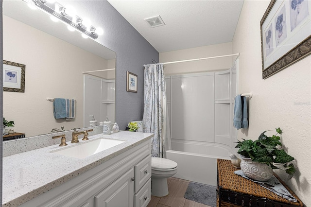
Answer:
<svg viewBox="0 0 311 207"><path fill-rule="evenodd" d="M3 117L27 137L83 127L82 71L105 69L107 60L10 17L3 30L3 59L26 65L25 92L3 92ZM47 97L76 99L76 118L55 120Z"/></svg>

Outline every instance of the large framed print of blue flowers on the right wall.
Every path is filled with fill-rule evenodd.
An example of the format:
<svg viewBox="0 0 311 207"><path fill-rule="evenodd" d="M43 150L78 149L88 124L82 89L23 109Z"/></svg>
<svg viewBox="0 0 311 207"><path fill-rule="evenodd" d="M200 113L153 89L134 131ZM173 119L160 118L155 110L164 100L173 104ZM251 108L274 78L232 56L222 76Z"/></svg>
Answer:
<svg viewBox="0 0 311 207"><path fill-rule="evenodd" d="M271 0L260 21L263 79L311 54L310 17L310 0Z"/></svg>

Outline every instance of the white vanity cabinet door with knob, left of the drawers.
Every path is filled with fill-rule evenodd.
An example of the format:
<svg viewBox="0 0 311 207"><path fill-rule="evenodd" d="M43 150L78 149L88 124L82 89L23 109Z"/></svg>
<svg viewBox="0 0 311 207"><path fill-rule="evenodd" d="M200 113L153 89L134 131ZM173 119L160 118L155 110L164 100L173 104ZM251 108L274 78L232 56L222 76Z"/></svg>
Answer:
<svg viewBox="0 0 311 207"><path fill-rule="evenodd" d="M133 178L133 179L132 179ZM134 169L130 169L94 198L94 207L133 207Z"/></svg>

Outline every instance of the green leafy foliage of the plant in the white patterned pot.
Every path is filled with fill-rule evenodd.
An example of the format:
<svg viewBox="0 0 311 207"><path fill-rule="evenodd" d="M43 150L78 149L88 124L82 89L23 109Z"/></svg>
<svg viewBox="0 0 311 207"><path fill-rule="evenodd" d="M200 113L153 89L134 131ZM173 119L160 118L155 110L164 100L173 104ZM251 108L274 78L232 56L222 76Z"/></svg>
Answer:
<svg viewBox="0 0 311 207"><path fill-rule="evenodd" d="M264 163L271 167L271 169L285 170L290 176L296 172L293 163L289 162L294 160L294 157L288 155L284 149L282 149L282 143L280 137L277 135L282 134L280 128L276 129L276 135L268 137L265 135L267 131L260 134L257 140L245 140L238 141L235 148L239 148L238 154L242 155L241 158L249 158L251 161ZM242 169L242 168L241 168ZM272 171L272 170L271 170ZM247 174L245 173L247 176ZM271 175L272 176L272 175Z"/></svg>

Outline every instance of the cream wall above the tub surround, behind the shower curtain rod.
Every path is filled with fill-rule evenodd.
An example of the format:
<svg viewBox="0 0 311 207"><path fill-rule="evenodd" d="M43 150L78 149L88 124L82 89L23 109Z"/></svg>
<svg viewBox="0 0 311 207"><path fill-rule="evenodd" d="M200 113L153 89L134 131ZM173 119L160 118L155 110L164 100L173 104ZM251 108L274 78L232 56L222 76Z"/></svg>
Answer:
<svg viewBox="0 0 311 207"><path fill-rule="evenodd" d="M172 52L161 52L159 53L159 61L160 63L164 63L178 60L188 60L188 59L231 54L231 52L232 52L232 43L229 42ZM168 64L164 66L164 73L165 75L173 75L173 74L184 74L202 71L215 71L215 70L229 69L231 68L231 66L232 66L232 58L225 57L211 60L200 60L200 61Z"/></svg>

